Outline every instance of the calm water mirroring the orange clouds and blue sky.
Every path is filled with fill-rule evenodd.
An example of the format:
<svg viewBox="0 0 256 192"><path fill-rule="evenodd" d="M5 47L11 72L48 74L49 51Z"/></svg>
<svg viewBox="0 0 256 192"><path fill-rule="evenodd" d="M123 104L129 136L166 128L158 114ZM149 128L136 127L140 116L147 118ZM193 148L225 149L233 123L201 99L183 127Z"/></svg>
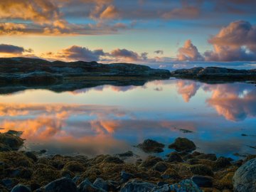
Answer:
<svg viewBox="0 0 256 192"><path fill-rule="evenodd" d="M234 153L256 154L250 147L256 145L255 117L256 87L241 82L172 79L0 95L0 131L21 130L26 149L47 149L48 154L95 156L130 149L142 154L133 146L144 139L171 144L187 137L198 151L235 158Z"/></svg>

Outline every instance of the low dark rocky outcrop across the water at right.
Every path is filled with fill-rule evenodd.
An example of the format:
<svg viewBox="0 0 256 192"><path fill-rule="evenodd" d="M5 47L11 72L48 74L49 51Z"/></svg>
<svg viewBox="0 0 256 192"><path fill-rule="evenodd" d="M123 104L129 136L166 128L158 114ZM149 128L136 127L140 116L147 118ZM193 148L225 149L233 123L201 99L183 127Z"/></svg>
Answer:
<svg viewBox="0 0 256 192"><path fill-rule="evenodd" d="M174 70L171 72L171 76L198 80L256 80L256 70L235 70L218 67L191 68Z"/></svg>

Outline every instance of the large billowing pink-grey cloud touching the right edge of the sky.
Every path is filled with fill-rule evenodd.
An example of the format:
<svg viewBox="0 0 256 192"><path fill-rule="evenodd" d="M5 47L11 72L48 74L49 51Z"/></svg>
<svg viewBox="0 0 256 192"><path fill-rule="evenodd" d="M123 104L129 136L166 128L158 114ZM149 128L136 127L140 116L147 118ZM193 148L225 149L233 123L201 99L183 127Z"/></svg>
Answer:
<svg viewBox="0 0 256 192"><path fill-rule="evenodd" d="M247 21L234 21L208 40L214 50L206 60L256 60L256 27Z"/></svg>

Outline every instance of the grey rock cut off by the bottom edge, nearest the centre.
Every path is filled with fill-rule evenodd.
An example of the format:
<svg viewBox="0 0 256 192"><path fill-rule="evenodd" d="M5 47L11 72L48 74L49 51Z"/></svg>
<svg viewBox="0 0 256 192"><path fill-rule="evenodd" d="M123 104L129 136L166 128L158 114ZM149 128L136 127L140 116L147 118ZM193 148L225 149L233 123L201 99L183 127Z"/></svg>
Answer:
<svg viewBox="0 0 256 192"><path fill-rule="evenodd" d="M122 186L120 192L137 192L137 191L151 191L155 185L153 183L148 183L144 181L138 181L134 179L129 181Z"/></svg>

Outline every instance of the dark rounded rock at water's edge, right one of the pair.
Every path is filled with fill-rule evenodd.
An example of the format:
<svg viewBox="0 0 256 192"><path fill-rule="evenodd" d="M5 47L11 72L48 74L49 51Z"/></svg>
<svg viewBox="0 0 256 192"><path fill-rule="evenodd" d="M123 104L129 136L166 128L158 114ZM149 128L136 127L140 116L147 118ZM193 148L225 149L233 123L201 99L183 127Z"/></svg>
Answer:
<svg viewBox="0 0 256 192"><path fill-rule="evenodd" d="M176 151L190 152L196 149L196 145L189 139L178 137L173 144L169 145L169 148Z"/></svg>

